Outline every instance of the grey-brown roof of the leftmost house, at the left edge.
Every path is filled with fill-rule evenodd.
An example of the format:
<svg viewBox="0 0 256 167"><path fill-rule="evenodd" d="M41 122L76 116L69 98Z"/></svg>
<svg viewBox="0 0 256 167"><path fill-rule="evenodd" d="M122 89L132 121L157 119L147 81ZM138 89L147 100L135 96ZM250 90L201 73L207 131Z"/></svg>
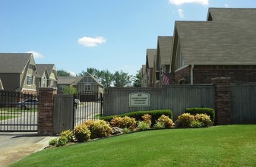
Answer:
<svg viewBox="0 0 256 167"><path fill-rule="evenodd" d="M0 73L22 73L32 53L0 53Z"/></svg>

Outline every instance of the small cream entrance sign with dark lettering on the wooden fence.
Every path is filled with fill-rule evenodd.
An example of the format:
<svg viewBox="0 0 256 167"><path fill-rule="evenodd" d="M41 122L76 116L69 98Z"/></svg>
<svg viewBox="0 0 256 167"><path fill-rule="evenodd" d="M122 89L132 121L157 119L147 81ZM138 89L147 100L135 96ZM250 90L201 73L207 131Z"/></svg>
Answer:
<svg viewBox="0 0 256 167"><path fill-rule="evenodd" d="M130 93L129 106L130 107L150 106L150 94L149 93Z"/></svg>

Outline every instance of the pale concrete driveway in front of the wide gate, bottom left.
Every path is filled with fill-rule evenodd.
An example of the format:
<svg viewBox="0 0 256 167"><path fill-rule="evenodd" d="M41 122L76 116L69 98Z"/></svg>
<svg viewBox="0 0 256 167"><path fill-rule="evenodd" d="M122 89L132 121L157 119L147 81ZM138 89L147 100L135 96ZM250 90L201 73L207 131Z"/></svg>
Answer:
<svg viewBox="0 0 256 167"><path fill-rule="evenodd" d="M29 156L43 150L54 137L38 136L37 132L0 132L0 166Z"/></svg>

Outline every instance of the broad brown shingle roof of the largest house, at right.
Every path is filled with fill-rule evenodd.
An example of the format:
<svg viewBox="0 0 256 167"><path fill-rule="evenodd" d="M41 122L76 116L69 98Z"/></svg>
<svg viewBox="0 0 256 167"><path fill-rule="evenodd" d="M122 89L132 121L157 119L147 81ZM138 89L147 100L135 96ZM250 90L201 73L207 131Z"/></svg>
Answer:
<svg viewBox="0 0 256 167"><path fill-rule="evenodd" d="M209 12L212 21L175 22L184 65L256 65L256 17L250 17L256 10L210 8Z"/></svg>

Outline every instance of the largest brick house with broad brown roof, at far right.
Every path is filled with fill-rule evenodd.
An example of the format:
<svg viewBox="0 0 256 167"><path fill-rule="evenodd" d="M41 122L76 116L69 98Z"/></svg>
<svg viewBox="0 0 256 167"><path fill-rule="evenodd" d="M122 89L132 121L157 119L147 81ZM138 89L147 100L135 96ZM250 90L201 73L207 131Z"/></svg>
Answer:
<svg viewBox="0 0 256 167"><path fill-rule="evenodd" d="M175 83L256 82L255 16L256 8L209 8L206 21L175 21L169 71Z"/></svg>

